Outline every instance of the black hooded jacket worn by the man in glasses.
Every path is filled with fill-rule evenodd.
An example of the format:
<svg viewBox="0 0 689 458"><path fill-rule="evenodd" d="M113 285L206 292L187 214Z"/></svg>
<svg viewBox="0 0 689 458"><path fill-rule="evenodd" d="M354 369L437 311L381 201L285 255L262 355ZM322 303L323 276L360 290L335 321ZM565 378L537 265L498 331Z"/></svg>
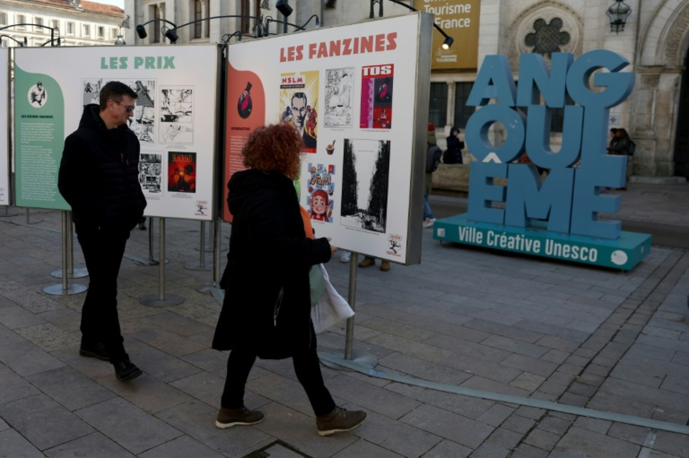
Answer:
<svg viewBox="0 0 689 458"><path fill-rule="evenodd" d="M86 105L79 129L65 139L57 186L74 222L131 230L146 207L138 138L126 125L107 129L99 113L99 105Z"/></svg>

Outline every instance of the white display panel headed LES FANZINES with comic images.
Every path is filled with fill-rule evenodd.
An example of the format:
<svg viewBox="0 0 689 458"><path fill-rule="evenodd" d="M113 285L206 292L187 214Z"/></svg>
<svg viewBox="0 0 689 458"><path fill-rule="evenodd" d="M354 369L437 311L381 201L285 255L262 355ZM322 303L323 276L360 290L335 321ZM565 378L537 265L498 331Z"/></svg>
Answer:
<svg viewBox="0 0 689 458"><path fill-rule="evenodd" d="M413 152L416 142L425 157L432 24L423 16L229 46L225 183L242 169L251 130L291 123L305 142L298 194L316 237L419 262L423 172Z"/></svg>

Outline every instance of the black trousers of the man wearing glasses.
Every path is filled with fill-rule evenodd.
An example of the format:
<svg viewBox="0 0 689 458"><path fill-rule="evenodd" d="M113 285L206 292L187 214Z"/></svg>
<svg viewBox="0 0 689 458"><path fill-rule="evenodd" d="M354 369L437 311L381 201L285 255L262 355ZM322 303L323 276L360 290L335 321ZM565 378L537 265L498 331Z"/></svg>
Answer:
<svg viewBox="0 0 689 458"><path fill-rule="evenodd" d="M110 362L120 362L127 353L117 315L117 275L130 231L79 222L74 227L90 276L81 309L81 342L100 342L107 348Z"/></svg>

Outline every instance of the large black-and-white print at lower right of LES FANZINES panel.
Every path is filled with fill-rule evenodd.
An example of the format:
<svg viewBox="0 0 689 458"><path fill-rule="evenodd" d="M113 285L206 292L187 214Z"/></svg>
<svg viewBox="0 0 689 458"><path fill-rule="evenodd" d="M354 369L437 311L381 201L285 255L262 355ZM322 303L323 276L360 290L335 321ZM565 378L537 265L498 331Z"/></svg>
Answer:
<svg viewBox="0 0 689 458"><path fill-rule="evenodd" d="M340 225L385 232L389 174L389 140L345 138Z"/></svg>

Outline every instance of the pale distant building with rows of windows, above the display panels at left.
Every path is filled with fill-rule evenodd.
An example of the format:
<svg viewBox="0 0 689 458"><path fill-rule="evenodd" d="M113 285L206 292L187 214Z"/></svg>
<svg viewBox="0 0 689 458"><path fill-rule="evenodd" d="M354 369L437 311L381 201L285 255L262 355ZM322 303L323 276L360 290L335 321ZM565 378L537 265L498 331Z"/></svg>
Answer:
<svg viewBox="0 0 689 458"><path fill-rule="evenodd" d="M81 0L3 0L0 2L0 28L19 23L54 28L60 45L113 45L123 35L124 10L116 6ZM3 46L50 46L50 29L35 25L5 28L0 34ZM15 41L16 40L16 41ZM55 45L57 44L55 41ZM19 42L19 43L17 43Z"/></svg>

